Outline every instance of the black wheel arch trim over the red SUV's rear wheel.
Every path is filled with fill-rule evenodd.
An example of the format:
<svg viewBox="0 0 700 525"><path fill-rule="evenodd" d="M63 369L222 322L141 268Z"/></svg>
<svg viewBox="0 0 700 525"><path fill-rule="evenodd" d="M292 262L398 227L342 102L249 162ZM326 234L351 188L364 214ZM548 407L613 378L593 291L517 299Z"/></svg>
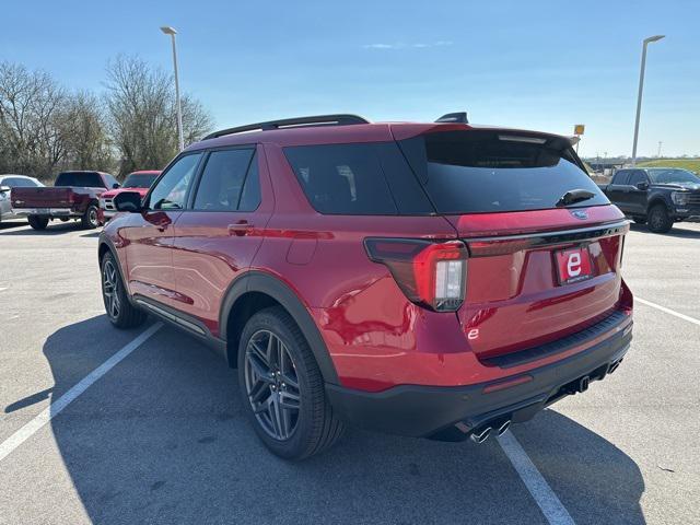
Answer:
<svg viewBox="0 0 700 525"><path fill-rule="evenodd" d="M316 359L326 383L339 384L326 343L307 307L279 278L252 270L237 278L226 291L219 316L220 336L226 341L226 359L237 363L238 340L246 322L262 308L282 306L294 319Z"/></svg>

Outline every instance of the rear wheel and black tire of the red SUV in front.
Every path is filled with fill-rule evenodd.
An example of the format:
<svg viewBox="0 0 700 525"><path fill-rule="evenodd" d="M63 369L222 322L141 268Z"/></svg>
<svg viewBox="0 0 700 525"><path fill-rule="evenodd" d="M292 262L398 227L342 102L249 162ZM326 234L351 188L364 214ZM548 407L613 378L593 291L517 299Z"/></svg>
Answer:
<svg viewBox="0 0 700 525"><path fill-rule="evenodd" d="M279 342L270 345L270 336ZM279 457L300 460L318 454L345 430L326 398L308 342L281 306L258 312L245 325L238 342L238 385L255 432ZM254 405L267 408L256 413Z"/></svg>

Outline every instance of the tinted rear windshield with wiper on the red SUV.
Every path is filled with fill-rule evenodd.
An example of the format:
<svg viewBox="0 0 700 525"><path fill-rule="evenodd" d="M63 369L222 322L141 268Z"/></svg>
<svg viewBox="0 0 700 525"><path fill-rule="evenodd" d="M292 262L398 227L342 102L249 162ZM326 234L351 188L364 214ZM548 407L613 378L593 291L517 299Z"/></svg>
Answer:
<svg viewBox="0 0 700 525"><path fill-rule="evenodd" d="M563 139L447 131L399 144L440 213L555 208L572 189L593 197L569 207L609 203Z"/></svg>

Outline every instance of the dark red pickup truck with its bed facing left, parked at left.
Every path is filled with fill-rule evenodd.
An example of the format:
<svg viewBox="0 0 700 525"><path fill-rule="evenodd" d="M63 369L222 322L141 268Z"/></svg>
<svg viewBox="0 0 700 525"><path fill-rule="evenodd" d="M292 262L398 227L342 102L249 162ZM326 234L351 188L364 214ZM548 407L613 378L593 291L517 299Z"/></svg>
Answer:
<svg viewBox="0 0 700 525"><path fill-rule="evenodd" d="M12 208L15 213L27 214L34 230L44 230L52 219L74 219L82 228L93 229L100 225L100 196L118 187L117 179L108 173L63 172L56 177L54 187L15 189Z"/></svg>

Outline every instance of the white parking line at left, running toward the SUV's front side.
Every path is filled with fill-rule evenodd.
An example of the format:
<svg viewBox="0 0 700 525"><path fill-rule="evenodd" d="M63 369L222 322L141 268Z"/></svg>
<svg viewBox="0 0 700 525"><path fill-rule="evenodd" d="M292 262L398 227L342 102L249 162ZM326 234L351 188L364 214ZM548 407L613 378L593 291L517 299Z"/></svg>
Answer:
<svg viewBox="0 0 700 525"><path fill-rule="evenodd" d="M136 339L122 347L118 352L112 355L107 361L102 363L95 370L93 370L85 377L63 394L58 399L51 401L51 404L42 410L38 416L32 419L28 423L18 430L14 434L0 443L0 462L8 457L12 451L32 438L42 427L48 423L51 419L58 416L68 405L70 405L78 396L85 392L95 381L109 372L119 361L129 355L133 350L143 345L159 328L162 323L156 323L142 331Z"/></svg>

